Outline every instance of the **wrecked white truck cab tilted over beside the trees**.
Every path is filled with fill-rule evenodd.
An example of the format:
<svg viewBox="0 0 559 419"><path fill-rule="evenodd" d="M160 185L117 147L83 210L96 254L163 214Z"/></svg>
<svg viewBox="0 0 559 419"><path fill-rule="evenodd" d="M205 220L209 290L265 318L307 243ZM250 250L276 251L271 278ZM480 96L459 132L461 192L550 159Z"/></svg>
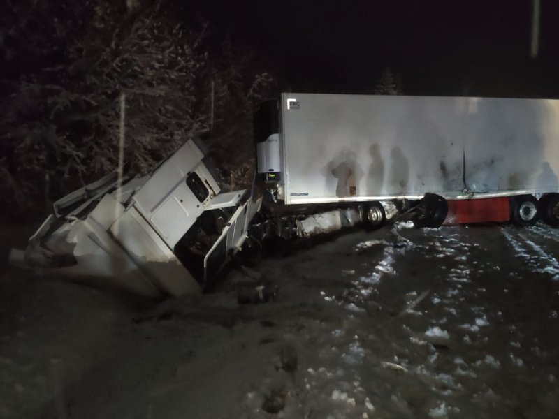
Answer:
<svg viewBox="0 0 559 419"><path fill-rule="evenodd" d="M261 200L220 193L193 140L151 175L112 173L58 200L10 261L147 297L201 291L237 253Z"/></svg>

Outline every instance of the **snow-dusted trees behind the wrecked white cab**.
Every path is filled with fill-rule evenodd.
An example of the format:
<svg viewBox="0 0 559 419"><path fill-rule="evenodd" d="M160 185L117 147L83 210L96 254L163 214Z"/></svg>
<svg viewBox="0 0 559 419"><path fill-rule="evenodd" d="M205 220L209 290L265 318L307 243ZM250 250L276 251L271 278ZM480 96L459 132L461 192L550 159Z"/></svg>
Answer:
<svg viewBox="0 0 559 419"><path fill-rule="evenodd" d="M228 177L247 165L252 107L273 78L210 22L185 19L172 0L8 3L0 17L0 193L11 210L115 169L122 93L127 170L150 170L210 128Z"/></svg>

